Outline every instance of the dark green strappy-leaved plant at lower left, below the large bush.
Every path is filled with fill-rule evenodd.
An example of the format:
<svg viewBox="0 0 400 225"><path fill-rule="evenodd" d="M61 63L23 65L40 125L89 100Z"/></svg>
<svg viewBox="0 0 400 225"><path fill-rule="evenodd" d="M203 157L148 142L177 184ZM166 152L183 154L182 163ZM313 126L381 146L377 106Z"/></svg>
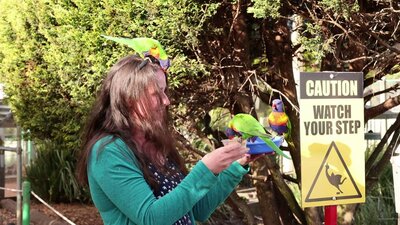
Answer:
<svg viewBox="0 0 400 225"><path fill-rule="evenodd" d="M74 176L75 156L66 147L50 141L37 144L37 157L26 168L32 190L51 202L87 201L89 193Z"/></svg>

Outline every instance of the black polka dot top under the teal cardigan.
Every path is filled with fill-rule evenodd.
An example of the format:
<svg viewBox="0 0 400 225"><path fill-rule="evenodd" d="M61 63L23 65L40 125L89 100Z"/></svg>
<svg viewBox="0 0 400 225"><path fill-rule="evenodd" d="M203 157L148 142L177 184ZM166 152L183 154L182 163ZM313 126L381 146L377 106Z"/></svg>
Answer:
<svg viewBox="0 0 400 225"><path fill-rule="evenodd" d="M156 179L159 188L158 190L153 190L154 195L157 199L166 195L170 191L172 191L184 178L182 172L170 161L167 161L169 171L167 174L162 174L157 170L157 168L150 163L148 165L150 171L153 173L154 178ZM189 213L184 215L178 221L176 221L173 225L192 225L192 221L190 220Z"/></svg>

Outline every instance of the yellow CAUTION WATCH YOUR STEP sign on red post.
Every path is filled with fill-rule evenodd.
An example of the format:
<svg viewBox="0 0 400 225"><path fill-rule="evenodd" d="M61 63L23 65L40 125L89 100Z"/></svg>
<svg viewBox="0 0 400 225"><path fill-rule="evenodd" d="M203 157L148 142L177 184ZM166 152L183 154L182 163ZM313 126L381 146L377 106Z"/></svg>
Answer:
<svg viewBox="0 0 400 225"><path fill-rule="evenodd" d="M365 202L362 93L362 73L300 73L303 207Z"/></svg>

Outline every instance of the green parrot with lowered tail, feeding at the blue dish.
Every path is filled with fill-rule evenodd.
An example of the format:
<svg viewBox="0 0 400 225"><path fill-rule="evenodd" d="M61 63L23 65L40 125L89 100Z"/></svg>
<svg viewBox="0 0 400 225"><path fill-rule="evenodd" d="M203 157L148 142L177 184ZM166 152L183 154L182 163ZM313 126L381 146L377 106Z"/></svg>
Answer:
<svg viewBox="0 0 400 225"><path fill-rule="evenodd" d="M291 159L275 145L275 143L270 139L271 135L267 134L260 122L250 114L236 114L229 121L228 128L226 129L226 136L230 139L234 136L241 136L244 139L250 138L251 141L254 141L253 139L259 137L276 153L287 159Z"/></svg>

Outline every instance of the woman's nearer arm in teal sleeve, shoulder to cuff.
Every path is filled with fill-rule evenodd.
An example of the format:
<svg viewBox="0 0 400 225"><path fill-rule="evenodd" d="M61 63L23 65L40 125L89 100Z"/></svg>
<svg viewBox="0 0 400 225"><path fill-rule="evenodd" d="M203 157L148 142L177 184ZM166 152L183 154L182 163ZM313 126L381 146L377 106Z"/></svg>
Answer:
<svg viewBox="0 0 400 225"><path fill-rule="evenodd" d="M192 210L217 183L218 178L200 161L175 189L156 199L133 153L116 142L99 154L93 150L89 178L135 224L170 225Z"/></svg>

